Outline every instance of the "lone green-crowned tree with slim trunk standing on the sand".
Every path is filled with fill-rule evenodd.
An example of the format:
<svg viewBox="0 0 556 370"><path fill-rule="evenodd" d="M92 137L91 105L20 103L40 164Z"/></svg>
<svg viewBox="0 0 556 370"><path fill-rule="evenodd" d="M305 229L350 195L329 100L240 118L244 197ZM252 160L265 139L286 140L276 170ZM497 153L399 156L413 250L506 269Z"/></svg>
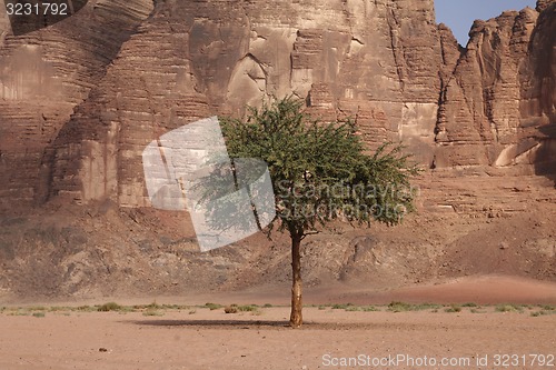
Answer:
<svg viewBox="0 0 556 370"><path fill-rule="evenodd" d="M291 97L249 108L244 120L221 119L231 158L267 162L276 196L275 224L291 238L290 324L302 323L301 241L344 219L396 224L413 210L409 178L418 172L399 146L368 154L351 120L324 123Z"/></svg>

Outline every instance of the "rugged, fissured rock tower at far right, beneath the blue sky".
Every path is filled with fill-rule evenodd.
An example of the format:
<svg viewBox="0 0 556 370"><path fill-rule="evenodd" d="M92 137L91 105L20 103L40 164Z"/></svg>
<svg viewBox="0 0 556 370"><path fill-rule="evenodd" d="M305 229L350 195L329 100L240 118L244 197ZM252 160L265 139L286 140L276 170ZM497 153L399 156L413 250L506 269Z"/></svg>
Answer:
<svg viewBox="0 0 556 370"><path fill-rule="evenodd" d="M441 92L435 166L554 171L556 4L476 21ZM550 133L552 132L552 133Z"/></svg>

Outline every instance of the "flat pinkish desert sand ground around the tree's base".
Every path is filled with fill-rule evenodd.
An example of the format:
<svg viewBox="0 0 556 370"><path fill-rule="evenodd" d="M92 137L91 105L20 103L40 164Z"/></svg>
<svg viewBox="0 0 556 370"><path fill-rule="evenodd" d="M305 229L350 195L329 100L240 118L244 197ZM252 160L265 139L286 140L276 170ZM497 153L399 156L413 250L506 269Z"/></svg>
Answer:
<svg viewBox="0 0 556 370"><path fill-rule="evenodd" d="M555 304L556 284L488 277L390 292L353 291L344 298L327 296L324 290L307 296L311 303L339 299L369 304L393 299ZM385 306L368 312L307 307L305 324L298 330L287 326L287 301L238 313L192 307L208 298L222 304L262 304L271 294L260 292L258 297L247 292L162 298L157 302L173 300L191 307L157 309L150 314L48 310L42 317L36 308L12 306L0 313L0 369L556 368L556 311L532 314L543 310L538 306L524 307L522 312L500 312L499 306L461 307L457 312L447 312L449 306L403 312L388 311ZM497 357L505 354L515 357ZM349 358L358 361L351 366L342 362ZM443 361L453 361L453 366Z"/></svg>

